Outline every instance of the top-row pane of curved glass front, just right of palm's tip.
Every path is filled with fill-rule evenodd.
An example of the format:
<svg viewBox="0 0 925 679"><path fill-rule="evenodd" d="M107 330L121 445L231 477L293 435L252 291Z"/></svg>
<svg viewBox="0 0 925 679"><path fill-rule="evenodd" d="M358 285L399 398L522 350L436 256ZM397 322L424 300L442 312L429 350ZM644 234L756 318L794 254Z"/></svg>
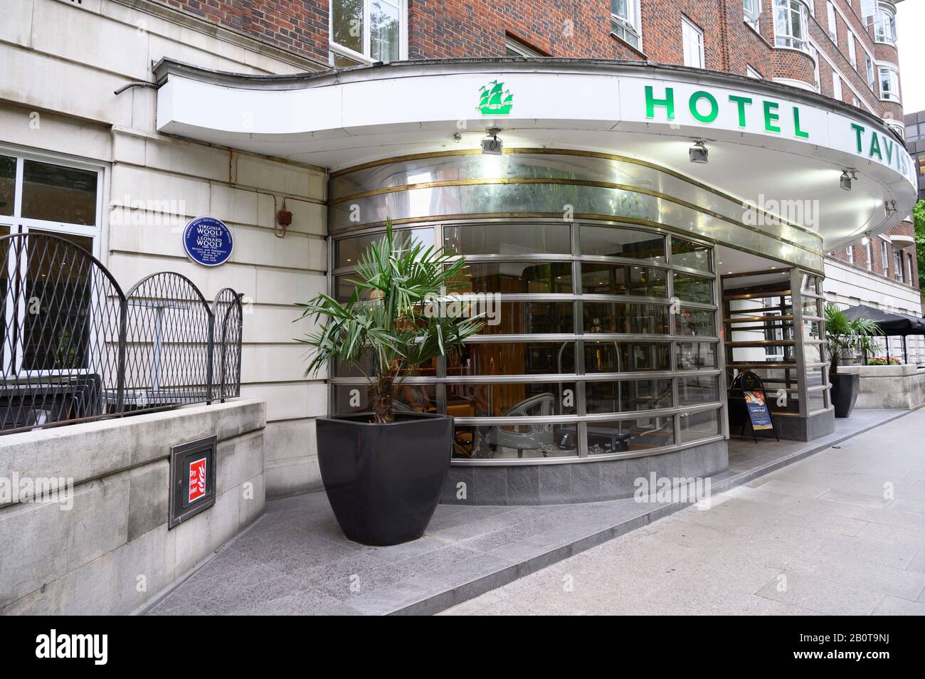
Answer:
<svg viewBox="0 0 925 679"><path fill-rule="evenodd" d="M485 224L443 228L443 243L459 254L571 254L567 224Z"/></svg>

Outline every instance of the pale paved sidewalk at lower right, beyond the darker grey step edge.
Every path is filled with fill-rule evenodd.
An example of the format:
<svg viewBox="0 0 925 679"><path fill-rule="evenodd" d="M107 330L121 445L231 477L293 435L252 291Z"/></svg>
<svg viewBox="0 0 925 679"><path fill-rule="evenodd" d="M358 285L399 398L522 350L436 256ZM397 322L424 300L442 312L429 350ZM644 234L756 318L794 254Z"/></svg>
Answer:
<svg viewBox="0 0 925 679"><path fill-rule="evenodd" d="M447 613L925 614L922 441L925 410Z"/></svg>

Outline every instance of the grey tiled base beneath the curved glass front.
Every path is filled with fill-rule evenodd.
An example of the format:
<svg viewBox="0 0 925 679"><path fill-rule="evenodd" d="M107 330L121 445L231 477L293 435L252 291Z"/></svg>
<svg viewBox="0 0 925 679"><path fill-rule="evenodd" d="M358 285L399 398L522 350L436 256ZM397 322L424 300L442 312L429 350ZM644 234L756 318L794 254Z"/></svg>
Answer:
<svg viewBox="0 0 925 679"><path fill-rule="evenodd" d="M729 466L726 441L628 460L561 464L450 467L444 504L571 504L631 498L635 480L720 474Z"/></svg>

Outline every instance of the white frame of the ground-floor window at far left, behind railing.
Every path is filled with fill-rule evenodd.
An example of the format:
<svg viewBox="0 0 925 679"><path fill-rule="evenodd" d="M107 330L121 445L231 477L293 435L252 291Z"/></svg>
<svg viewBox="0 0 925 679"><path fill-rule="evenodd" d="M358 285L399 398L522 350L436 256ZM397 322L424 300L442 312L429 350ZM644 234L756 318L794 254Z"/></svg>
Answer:
<svg viewBox="0 0 925 679"><path fill-rule="evenodd" d="M103 194L105 191L105 167L95 163L88 163L86 161L81 161L77 159L70 158L68 156L59 155L59 154L43 154L35 153L32 151L26 151L23 149L4 146L0 144L0 155L6 155L16 158L16 179L14 184L14 194L13 194L13 214L11 216L0 216L0 226L9 228L9 232L13 233L29 233L32 228L41 229L50 233L57 234L68 234L73 236L83 236L91 239L93 246L91 248L91 254L94 257L99 258L100 253L100 234L102 233L102 224L103 224ZM74 169L88 170L90 172L96 173L96 209L93 215L93 226L88 226L85 224L71 224L68 222L55 222L49 221L46 219L35 219L32 217L22 216L22 186L23 186L23 177L27 161L33 161L37 163L47 163L49 165L58 165L61 167L72 167ZM19 267L22 276L25 276L27 266L25 258L27 253L24 250L22 254L22 261ZM10 265L14 265L10 262ZM8 273L6 274L9 275ZM25 286L20 286L20 291L25 290ZM23 327L25 324L25 308L26 305L19 303L10 302L9 297L16 294L17 290L6 291L7 301L6 301L6 318L0 318L0 323L5 323L6 327ZM13 310L19 309L19 318L13 318ZM0 348L0 362L2 362L2 367L6 372L6 375L15 375L19 374L22 370L22 362L25 359L25 351L23 340L20 339L17 342L17 346L10 347L6 342L4 346ZM30 370L31 375L42 376L42 375L73 375L79 374L81 372L86 372L85 368L76 368L74 370Z"/></svg>

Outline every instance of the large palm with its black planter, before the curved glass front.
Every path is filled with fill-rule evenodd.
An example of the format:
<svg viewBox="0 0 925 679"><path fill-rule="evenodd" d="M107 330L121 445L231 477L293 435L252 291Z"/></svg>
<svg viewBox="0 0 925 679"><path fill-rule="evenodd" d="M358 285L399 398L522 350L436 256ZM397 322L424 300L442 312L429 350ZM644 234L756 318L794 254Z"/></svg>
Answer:
<svg viewBox="0 0 925 679"><path fill-rule="evenodd" d="M463 281L452 253L392 232L356 265L355 290L341 303L319 294L301 318L319 322L300 339L309 347L307 375L339 361L366 379L370 412L317 420L321 477L344 535L365 545L421 537L437 509L450 468L452 417L398 407L402 381L482 326L478 315L440 315L436 308ZM464 305L462 305L464 308ZM420 410L428 410L422 406Z"/></svg>

